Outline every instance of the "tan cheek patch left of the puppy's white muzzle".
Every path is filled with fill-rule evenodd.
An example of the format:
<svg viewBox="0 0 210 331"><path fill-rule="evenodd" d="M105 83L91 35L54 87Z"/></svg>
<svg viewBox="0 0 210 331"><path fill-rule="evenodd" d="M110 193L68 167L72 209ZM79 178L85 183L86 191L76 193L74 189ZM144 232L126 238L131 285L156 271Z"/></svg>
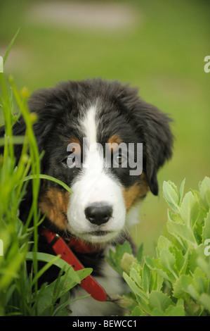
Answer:
<svg viewBox="0 0 210 331"><path fill-rule="evenodd" d="M48 212L46 217L51 220L60 230L67 227L67 206L70 201L68 192L60 192L58 189L48 189L39 197L41 213Z"/></svg>

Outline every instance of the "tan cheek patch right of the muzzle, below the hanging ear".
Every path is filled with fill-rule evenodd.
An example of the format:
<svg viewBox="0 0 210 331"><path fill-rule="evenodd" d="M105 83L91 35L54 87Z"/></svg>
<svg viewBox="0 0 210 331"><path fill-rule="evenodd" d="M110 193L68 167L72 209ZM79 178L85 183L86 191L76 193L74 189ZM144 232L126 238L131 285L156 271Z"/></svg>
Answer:
<svg viewBox="0 0 210 331"><path fill-rule="evenodd" d="M149 190L147 179L144 174L140 175L140 182L135 183L129 189L124 189L124 201L126 204L126 210L128 211L131 207L140 201L147 194Z"/></svg>

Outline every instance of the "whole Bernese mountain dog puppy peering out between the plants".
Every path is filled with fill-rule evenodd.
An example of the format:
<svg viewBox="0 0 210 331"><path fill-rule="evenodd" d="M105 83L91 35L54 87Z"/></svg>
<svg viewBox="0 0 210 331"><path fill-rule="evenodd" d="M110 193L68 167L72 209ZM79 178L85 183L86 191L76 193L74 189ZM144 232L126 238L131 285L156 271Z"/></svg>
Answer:
<svg viewBox="0 0 210 331"><path fill-rule="evenodd" d="M93 279L107 295L123 294L124 281L105 254L117 242L129 240L128 229L136 221L133 211L148 190L158 194L157 170L172 153L170 118L140 99L137 89L101 79L40 89L29 99L29 110L39 118L34 134L40 153L44 151L41 173L58 178L73 192L41 181L39 208L46 218L39 227L39 251L56 254L43 229L58 234L66 244L72 242L71 250L85 268L93 268ZM13 134L25 134L22 117ZM17 161L21 149L15 146ZM29 191L20 205L23 222L32 204ZM41 282L52 282L58 271L51 267ZM84 294L78 285L71 298ZM70 310L72 316L120 314L116 304L91 296L74 301Z"/></svg>

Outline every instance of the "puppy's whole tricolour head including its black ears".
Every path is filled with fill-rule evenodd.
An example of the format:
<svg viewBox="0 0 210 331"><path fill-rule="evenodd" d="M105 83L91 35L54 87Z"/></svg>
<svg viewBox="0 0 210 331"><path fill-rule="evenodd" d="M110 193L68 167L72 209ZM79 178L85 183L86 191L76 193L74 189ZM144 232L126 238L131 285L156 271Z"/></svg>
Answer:
<svg viewBox="0 0 210 331"><path fill-rule="evenodd" d="M38 92L29 108L39 115L34 132L45 151L43 173L73 191L45 181L41 212L85 242L112 241L149 187L157 194L157 169L171 155L168 118L136 90L103 80Z"/></svg>

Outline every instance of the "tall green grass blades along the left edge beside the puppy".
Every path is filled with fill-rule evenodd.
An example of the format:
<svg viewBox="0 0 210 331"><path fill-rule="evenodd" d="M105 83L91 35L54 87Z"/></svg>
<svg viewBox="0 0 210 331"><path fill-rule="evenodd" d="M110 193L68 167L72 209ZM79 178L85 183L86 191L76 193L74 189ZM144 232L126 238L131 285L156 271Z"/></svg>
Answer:
<svg viewBox="0 0 210 331"><path fill-rule="evenodd" d="M18 32L15 37L17 37ZM15 41L13 38L4 56L4 63ZM40 159L33 124L37 115L27 108L27 89L19 93L13 77L8 81L0 73L0 111L4 114L4 138L0 139L0 316L66 316L70 314L70 289L91 273L91 268L75 272L60 256L39 253L38 226L44 220L38 208L41 178L53 180L71 192L64 183L53 177L40 175ZM14 104L18 115L14 115ZM16 107L16 106L15 106ZM20 115L26 123L24 137L14 137L12 127ZM19 161L15 159L14 144L22 144ZM19 218L19 206L32 180L32 206L25 224ZM32 221L32 223L31 223ZM33 224L33 225L29 225ZM27 273L26 263L32 270ZM38 269L38 261L46 262ZM58 279L38 287L39 277L52 265L60 268Z"/></svg>

